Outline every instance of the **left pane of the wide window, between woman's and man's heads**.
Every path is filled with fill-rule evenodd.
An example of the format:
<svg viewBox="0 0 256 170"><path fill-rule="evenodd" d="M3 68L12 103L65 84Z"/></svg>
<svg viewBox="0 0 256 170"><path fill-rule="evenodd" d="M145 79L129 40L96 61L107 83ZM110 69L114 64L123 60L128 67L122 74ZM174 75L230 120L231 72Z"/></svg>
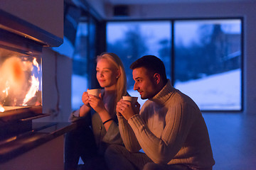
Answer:
<svg viewBox="0 0 256 170"><path fill-rule="evenodd" d="M171 74L171 22L170 21L125 21L107 23L107 51L121 57L127 73L128 92L139 97L133 90L134 81L130 64L143 55L156 55L166 64Z"/></svg>

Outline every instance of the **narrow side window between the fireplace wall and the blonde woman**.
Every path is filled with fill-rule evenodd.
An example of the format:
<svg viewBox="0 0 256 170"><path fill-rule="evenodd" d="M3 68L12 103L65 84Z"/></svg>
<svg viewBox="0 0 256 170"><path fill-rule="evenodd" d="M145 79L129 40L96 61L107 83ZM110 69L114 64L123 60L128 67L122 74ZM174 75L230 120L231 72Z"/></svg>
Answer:
<svg viewBox="0 0 256 170"><path fill-rule="evenodd" d="M60 47L53 47L53 50L73 59L73 111L82 106L82 93L90 88L90 75L95 70L96 21L86 10L65 1L64 42Z"/></svg>

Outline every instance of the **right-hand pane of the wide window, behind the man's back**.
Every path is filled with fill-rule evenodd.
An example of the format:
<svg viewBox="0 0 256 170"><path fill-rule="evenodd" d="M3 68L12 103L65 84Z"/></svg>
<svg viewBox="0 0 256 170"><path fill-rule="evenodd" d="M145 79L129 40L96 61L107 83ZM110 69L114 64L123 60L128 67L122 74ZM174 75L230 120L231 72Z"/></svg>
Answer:
<svg viewBox="0 0 256 170"><path fill-rule="evenodd" d="M175 87L203 111L240 111L240 19L175 21Z"/></svg>

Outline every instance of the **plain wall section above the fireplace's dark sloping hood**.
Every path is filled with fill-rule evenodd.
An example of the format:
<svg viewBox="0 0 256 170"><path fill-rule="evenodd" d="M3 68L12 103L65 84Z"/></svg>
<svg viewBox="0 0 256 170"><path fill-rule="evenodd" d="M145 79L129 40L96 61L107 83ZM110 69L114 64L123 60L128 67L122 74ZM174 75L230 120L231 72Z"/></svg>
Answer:
<svg viewBox="0 0 256 170"><path fill-rule="evenodd" d="M1 0L0 8L63 38L63 0Z"/></svg>

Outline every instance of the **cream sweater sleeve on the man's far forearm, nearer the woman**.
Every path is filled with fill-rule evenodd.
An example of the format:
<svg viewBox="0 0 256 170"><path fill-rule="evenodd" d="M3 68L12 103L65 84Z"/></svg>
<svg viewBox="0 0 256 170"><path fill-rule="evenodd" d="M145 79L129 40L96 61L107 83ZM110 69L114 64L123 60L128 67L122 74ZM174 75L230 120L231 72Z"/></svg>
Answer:
<svg viewBox="0 0 256 170"><path fill-rule="evenodd" d="M141 146L137 140L129 123L123 116L117 116L119 122L119 132L124 142L124 146L129 150L129 152L139 152Z"/></svg>

